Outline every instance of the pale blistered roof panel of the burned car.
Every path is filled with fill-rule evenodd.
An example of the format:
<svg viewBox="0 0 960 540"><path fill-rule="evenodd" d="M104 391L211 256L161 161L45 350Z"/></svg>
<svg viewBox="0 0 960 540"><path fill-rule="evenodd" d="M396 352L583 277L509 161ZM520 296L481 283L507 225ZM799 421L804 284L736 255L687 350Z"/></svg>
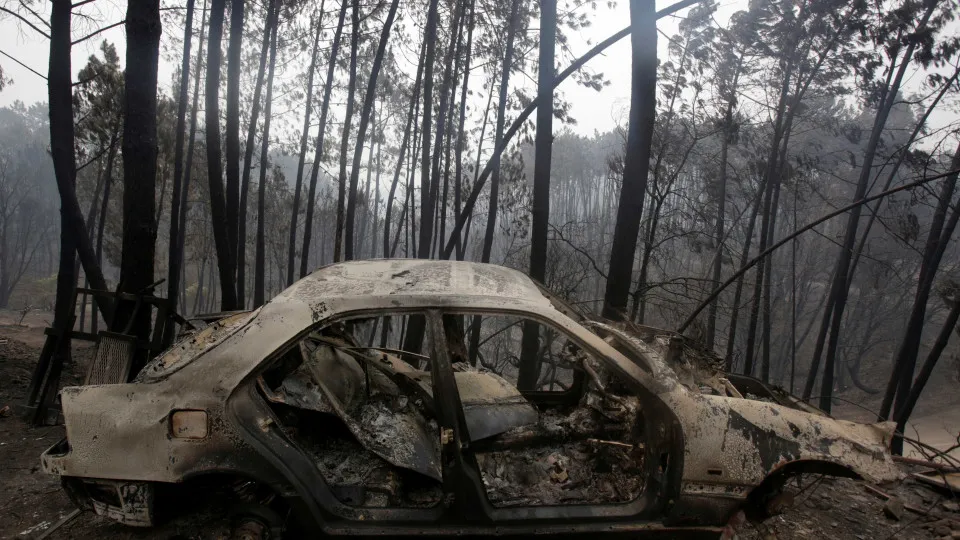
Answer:
<svg viewBox="0 0 960 540"><path fill-rule="evenodd" d="M400 303L434 299L456 300L455 303L464 305L471 298L499 298L549 304L536 283L517 270L427 259L375 259L324 266L294 283L275 300L312 302L360 297L390 297Z"/></svg>

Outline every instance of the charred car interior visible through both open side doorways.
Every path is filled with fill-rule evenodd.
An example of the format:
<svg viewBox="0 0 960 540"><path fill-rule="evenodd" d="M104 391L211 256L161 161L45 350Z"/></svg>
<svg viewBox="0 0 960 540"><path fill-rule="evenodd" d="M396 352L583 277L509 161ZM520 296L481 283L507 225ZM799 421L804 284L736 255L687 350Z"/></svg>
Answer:
<svg viewBox="0 0 960 540"><path fill-rule="evenodd" d="M446 313L439 337L427 326L421 313L340 319L258 378L288 438L341 503L440 503L444 433L430 369L438 350L453 368L469 451L493 507L640 497L657 467L646 463L641 400L594 353L521 315Z"/></svg>

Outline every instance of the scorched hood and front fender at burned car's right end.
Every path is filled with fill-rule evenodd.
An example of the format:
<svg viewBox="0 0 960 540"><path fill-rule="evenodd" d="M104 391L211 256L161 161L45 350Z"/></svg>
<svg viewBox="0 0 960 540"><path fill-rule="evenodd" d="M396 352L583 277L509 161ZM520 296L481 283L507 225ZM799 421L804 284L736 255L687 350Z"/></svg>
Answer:
<svg viewBox="0 0 960 540"><path fill-rule="evenodd" d="M715 354L672 332L588 325L653 373L654 392L683 426L685 480L755 485L804 462L836 465L871 482L902 477L889 451L893 422L835 419L758 379L724 373Z"/></svg>

